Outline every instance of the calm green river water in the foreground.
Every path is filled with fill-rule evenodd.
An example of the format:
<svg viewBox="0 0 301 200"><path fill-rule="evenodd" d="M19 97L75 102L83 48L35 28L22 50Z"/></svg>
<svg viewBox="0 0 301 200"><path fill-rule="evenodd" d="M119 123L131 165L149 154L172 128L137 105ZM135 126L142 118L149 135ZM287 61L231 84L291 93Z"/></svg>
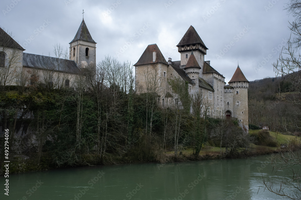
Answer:
<svg viewBox="0 0 301 200"><path fill-rule="evenodd" d="M9 197L1 176L0 199L283 199L262 187L262 173L275 180L288 174L277 172L278 178L272 173L272 166L264 164L268 157L14 174L9 175ZM259 172L258 167L264 169Z"/></svg>

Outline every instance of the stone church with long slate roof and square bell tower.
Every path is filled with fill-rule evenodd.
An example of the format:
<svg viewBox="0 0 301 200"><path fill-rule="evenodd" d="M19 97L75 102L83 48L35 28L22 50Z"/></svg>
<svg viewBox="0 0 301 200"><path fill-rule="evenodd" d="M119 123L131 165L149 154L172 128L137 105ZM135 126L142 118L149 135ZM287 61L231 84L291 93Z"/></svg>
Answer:
<svg viewBox="0 0 301 200"><path fill-rule="evenodd" d="M10 35L0 28L1 85L35 85L50 88L73 87L83 68L96 67L96 42L84 19L69 43L69 59L24 52Z"/></svg>

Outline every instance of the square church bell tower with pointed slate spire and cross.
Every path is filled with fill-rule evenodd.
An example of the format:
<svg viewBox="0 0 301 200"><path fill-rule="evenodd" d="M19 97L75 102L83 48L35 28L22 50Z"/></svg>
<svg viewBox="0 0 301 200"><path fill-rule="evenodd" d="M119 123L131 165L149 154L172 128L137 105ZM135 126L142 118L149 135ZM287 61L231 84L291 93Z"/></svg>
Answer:
<svg viewBox="0 0 301 200"><path fill-rule="evenodd" d="M84 19L69 44L69 59L74 60L79 68L85 68L88 64L96 66L96 42L92 39Z"/></svg>

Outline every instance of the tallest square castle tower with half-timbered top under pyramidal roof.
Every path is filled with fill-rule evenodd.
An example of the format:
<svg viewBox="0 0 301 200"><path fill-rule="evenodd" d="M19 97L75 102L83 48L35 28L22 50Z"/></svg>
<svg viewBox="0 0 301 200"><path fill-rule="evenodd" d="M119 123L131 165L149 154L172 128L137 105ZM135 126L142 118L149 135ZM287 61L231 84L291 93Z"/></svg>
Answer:
<svg viewBox="0 0 301 200"><path fill-rule="evenodd" d="M199 66L203 69L204 55L206 55L208 48L205 46L193 26L188 28L177 47L178 52L181 53L181 65L187 64L190 52L193 51L195 59ZM202 70L200 70L199 76L203 78Z"/></svg>

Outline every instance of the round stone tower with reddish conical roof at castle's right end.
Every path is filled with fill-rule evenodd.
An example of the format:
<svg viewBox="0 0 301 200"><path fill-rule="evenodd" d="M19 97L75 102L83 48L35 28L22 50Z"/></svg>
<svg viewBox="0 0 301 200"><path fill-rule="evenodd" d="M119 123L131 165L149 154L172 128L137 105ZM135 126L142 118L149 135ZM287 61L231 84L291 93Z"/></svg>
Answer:
<svg viewBox="0 0 301 200"><path fill-rule="evenodd" d="M238 125L249 133L249 113L248 113L248 88L249 81L246 79L239 66L229 81L229 86L233 87L233 115L238 120Z"/></svg>

